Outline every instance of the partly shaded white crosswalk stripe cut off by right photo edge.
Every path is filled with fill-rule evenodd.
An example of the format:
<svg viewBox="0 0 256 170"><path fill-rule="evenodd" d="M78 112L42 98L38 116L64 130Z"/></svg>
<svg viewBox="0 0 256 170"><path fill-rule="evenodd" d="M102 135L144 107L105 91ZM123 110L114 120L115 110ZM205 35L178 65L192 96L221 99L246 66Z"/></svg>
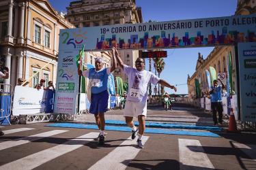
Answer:
<svg viewBox="0 0 256 170"><path fill-rule="evenodd" d="M253 159L253 161L256 161L256 157L255 157L256 146L255 145L250 145L250 144L245 145L243 143L237 143L237 142L233 142L233 141L231 141L231 143L233 143L233 146L235 148L239 148L240 150L242 150L242 152L244 152L245 154L250 156Z"/></svg>

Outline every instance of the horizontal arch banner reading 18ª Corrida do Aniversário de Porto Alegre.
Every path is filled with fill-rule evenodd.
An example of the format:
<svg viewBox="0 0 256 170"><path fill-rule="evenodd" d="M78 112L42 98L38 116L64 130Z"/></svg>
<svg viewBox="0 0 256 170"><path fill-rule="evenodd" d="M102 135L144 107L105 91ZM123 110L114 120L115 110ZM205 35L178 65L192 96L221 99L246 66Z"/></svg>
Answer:
<svg viewBox="0 0 256 170"><path fill-rule="evenodd" d="M59 50L180 48L255 41L256 15L61 30Z"/></svg>

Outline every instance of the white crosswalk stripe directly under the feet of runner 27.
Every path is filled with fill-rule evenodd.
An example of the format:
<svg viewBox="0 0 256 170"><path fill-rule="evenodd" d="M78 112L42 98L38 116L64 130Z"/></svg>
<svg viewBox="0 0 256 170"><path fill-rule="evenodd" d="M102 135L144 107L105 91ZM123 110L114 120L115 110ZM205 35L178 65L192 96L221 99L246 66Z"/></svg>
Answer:
<svg viewBox="0 0 256 170"><path fill-rule="evenodd" d="M149 137L143 136L143 145ZM137 141L129 137L126 141L120 144L120 147L115 148L112 152L104 156L89 169L126 169L130 161L137 156L141 151L137 148Z"/></svg>

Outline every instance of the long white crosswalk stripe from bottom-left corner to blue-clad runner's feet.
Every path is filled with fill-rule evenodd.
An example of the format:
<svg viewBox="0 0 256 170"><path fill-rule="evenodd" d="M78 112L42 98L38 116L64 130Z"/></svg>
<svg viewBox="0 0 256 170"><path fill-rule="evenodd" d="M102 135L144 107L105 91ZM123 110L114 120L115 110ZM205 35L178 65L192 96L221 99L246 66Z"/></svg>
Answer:
<svg viewBox="0 0 256 170"><path fill-rule="evenodd" d="M24 158L14 160L11 163L1 166L0 169L34 169L49 160L82 147L88 141L93 141L95 137L98 137L98 135L99 133L88 133L86 135L76 137L53 148L48 148L47 150L42 150Z"/></svg>

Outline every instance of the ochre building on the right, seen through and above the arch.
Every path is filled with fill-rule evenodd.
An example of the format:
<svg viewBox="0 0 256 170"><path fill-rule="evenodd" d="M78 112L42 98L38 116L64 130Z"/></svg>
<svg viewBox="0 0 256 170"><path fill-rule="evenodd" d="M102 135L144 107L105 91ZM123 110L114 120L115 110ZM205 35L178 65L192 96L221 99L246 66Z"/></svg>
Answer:
<svg viewBox="0 0 256 170"><path fill-rule="evenodd" d="M238 5L235 14L236 15L248 15L255 14L256 12L256 1L255 0L238 0ZM231 52L231 63L233 65L232 80L233 80L233 91L237 92L236 84L236 67L235 67L235 51L233 46L218 46L205 58L199 53L197 59L197 65L195 67L195 73L188 75L188 98L195 99L196 88L195 79L199 80L201 92L208 90L207 78L205 75L205 69L209 69L210 66L216 69L217 73L227 73L227 54Z"/></svg>

